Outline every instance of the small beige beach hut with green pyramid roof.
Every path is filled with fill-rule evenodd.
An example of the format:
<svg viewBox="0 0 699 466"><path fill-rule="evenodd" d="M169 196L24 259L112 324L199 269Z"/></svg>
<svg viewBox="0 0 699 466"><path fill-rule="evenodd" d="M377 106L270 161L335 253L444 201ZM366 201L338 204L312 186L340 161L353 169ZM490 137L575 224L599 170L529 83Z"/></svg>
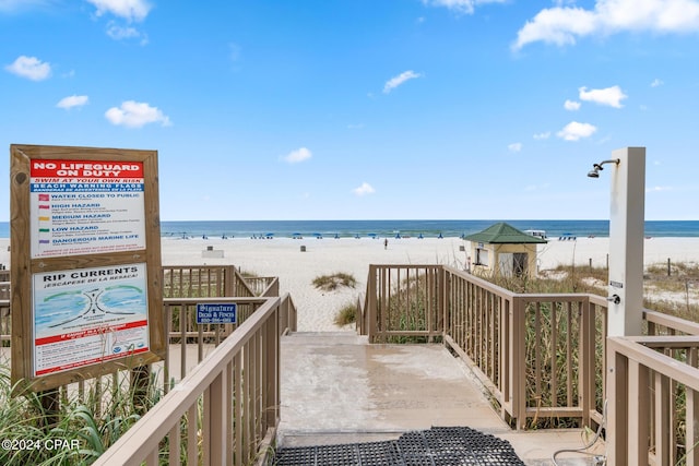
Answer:
<svg viewBox="0 0 699 466"><path fill-rule="evenodd" d="M471 241L472 271L501 276L536 275L536 247L546 243L505 222L464 239Z"/></svg>

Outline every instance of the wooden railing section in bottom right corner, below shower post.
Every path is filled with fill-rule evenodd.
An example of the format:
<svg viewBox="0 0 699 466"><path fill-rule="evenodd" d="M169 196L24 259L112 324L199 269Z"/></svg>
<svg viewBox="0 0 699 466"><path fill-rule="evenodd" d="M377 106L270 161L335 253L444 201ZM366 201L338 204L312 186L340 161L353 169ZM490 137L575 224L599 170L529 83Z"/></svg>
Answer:
<svg viewBox="0 0 699 466"><path fill-rule="evenodd" d="M699 465L699 337L611 337L607 464Z"/></svg>

